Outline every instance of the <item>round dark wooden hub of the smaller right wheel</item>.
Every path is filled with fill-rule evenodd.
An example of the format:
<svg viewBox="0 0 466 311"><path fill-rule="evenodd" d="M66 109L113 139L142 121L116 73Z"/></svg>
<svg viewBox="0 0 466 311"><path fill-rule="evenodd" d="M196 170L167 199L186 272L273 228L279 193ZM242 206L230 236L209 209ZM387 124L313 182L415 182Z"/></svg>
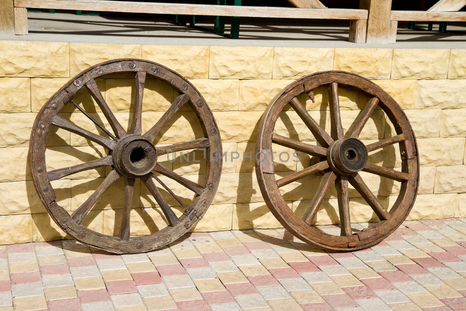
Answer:
<svg viewBox="0 0 466 311"><path fill-rule="evenodd" d="M330 168L340 175L361 171L367 164L368 153L362 141L356 138L338 139L327 152Z"/></svg>

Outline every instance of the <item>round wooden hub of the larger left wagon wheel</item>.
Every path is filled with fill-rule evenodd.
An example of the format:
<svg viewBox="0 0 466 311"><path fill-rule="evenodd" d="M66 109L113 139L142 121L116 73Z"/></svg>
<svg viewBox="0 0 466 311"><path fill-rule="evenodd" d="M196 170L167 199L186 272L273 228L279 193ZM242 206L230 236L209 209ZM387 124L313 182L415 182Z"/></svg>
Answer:
<svg viewBox="0 0 466 311"><path fill-rule="evenodd" d="M112 156L117 171L132 178L150 173L157 163L154 145L141 135L131 134L120 139Z"/></svg>

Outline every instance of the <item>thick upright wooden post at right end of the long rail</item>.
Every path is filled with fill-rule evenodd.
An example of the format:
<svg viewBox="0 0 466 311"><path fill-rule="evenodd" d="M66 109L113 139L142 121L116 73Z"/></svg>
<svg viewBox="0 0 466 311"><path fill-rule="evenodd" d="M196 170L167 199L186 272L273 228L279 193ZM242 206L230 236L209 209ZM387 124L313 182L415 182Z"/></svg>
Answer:
<svg viewBox="0 0 466 311"><path fill-rule="evenodd" d="M367 43L389 43L391 0L361 0L359 8L369 11Z"/></svg>

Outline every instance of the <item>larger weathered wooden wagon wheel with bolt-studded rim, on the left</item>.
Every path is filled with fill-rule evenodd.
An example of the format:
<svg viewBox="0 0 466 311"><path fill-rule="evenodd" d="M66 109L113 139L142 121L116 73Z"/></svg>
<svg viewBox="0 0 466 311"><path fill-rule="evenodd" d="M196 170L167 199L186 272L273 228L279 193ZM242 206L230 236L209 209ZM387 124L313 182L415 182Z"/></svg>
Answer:
<svg viewBox="0 0 466 311"><path fill-rule="evenodd" d="M96 84L96 78L113 73L130 73L135 76L134 110L128 132L118 123ZM141 119L146 76L152 76L163 81L174 90L177 90L180 95L176 97L163 116L157 122L154 122L155 124L151 129L143 133ZM74 102L73 97L76 92L84 86L102 110L114 134L105 129L102 124L99 124L82 107ZM70 102L89 117L96 126L100 127L108 137L87 131L79 125L58 116L57 113L66 104L70 105ZM185 104L189 104L192 107L192 111L197 114L204 137L175 145L155 146L153 144L154 138L156 138L157 134L164 128L164 125L167 124L171 117ZM109 151L109 155L91 162L47 172L45 150L46 139L51 125L102 145ZM157 162L158 155L196 148L206 148L207 155L206 171L204 181L201 185L172 172ZM183 235L192 228L206 212L219 184L222 162L215 160L216 154L221 154L219 130L212 112L199 91L175 71L158 63L139 59L119 59L103 62L82 71L71 79L42 107L35 119L30 141L30 167L34 186L53 220L60 228L75 239L114 253L150 251L176 240L180 235ZM56 203L55 191L50 181L103 166L111 166L110 173L107 174L95 192L71 215ZM190 189L194 197L192 203L186 207L153 172L158 172L172 180L176 180L179 184ZM88 214L104 191L119 178L124 178L124 189L121 189L124 191L124 202L123 218L118 236L103 235L82 226L82 219ZM130 236L131 198L135 180L138 178L144 182L145 186L154 196L169 225L151 235ZM184 214L179 218L166 200L164 200L156 182L163 186L185 208Z"/></svg>

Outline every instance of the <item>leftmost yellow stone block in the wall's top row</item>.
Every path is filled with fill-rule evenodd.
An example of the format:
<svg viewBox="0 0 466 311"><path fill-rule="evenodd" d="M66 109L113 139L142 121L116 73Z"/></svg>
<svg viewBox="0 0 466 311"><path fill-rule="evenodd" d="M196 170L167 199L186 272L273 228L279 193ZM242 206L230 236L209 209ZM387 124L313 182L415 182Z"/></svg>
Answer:
<svg viewBox="0 0 466 311"><path fill-rule="evenodd" d="M69 77L69 43L0 41L0 76Z"/></svg>

